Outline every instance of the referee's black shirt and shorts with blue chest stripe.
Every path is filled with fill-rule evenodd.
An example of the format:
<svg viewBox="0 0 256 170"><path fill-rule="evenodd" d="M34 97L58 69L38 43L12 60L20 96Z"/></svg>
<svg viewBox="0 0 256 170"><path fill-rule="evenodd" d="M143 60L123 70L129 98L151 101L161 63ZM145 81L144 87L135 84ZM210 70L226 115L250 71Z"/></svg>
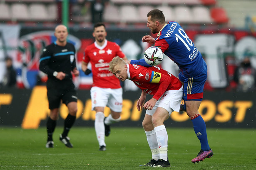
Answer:
<svg viewBox="0 0 256 170"><path fill-rule="evenodd" d="M66 105L69 102L77 102L77 92L72 82L71 71L76 67L75 46L68 43L58 46L56 42L46 46L40 56L39 70L48 75L46 83L49 109L60 107L60 100ZM62 71L66 74L63 80L54 75Z"/></svg>

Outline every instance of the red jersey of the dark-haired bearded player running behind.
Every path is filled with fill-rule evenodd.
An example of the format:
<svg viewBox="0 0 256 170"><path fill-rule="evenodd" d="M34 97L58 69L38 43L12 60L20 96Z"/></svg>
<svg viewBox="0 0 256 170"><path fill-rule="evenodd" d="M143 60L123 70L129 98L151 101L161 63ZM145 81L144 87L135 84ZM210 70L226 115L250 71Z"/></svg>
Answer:
<svg viewBox="0 0 256 170"><path fill-rule="evenodd" d="M96 41L85 49L83 61L92 64L92 86L101 88L121 88L120 81L109 71L109 63L116 56L124 58L120 46L114 42L105 40L103 46Z"/></svg>

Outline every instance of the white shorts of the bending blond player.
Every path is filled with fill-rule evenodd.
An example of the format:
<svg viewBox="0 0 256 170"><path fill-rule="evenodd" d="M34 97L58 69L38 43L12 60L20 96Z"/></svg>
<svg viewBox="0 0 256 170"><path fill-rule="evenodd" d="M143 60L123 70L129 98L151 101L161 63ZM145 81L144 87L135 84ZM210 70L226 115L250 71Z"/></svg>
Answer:
<svg viewBox="0 0 256 170"><path fill-rule="evenodd" d="M164 95L162 95L159 100L157 100L152 110L146 110L146 114L153 116L157 107L166 109L169 112L169 115L171 115L171 112L173 111L179 112L182 97L183 86L179 90L168 90L164 92Z"/></svg>

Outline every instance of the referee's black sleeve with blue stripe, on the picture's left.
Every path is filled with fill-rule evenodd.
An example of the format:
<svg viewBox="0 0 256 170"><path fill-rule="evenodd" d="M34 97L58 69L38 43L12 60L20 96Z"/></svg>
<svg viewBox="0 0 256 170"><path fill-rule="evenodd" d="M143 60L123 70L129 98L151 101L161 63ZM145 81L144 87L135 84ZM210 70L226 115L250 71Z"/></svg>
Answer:
<svg viewBox="0 0 256 170"><path fill-rule="evenodd" d="M43 53L40 56L39 70L46 73L47 75L52 75L54 70L49 68L50 58L52 57L52 52L49 46L43 49Z"/></svg>

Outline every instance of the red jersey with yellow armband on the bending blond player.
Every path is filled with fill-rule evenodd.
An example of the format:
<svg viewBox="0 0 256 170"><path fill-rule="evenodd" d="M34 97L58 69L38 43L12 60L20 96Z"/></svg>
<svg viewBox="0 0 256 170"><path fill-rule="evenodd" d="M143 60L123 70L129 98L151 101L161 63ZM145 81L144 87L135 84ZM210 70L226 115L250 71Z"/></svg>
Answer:
<svg viewBox="0 0 256 170"><path fill-rule="evenodd" d="M179 90L182 86L178 78L157 66L147 68L127 64L127 67L128 79L147 94L154 95L156 100L159 100L167 90Z"/></svg>

